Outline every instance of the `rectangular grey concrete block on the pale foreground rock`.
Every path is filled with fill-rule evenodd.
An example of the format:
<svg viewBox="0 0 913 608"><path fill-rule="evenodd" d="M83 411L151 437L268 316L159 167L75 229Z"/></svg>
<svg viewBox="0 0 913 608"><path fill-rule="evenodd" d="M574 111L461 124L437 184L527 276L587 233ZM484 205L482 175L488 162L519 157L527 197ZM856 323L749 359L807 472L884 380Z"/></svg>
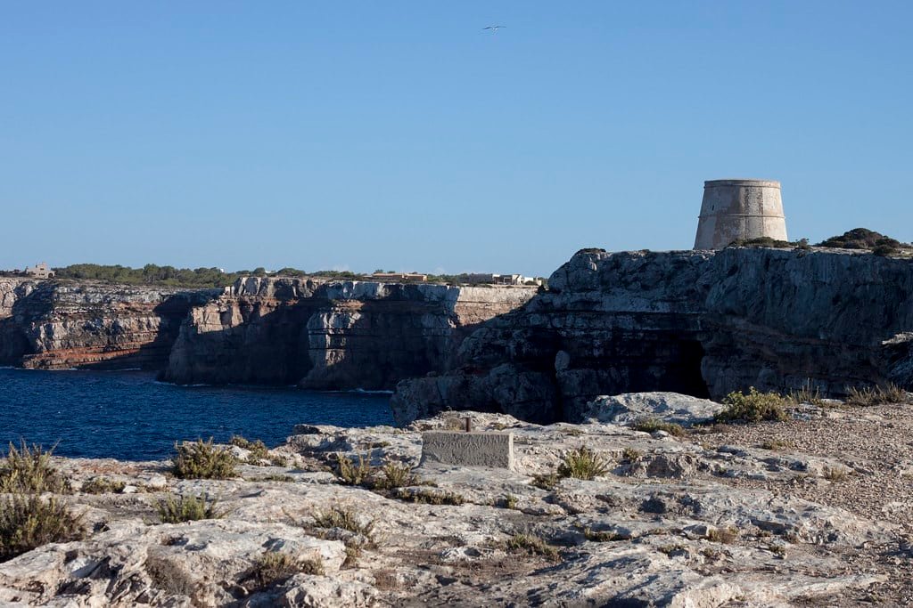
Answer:
<svg viewBox="0 0 913 608"><path fill-rule="evenodd" d="M422 434L425 462L513 469L513 433L429 431Z"/></svg>

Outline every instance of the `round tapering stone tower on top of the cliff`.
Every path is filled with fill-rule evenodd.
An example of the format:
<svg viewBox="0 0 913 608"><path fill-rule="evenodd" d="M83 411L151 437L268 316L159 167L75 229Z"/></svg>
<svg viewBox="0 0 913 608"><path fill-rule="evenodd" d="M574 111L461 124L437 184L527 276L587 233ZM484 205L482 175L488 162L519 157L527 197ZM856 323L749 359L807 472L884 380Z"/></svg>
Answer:
<svg viewBox="0 0 913 608"><path fill-rule="evenodd" d="M761 236L787 240L779 181L704 182L695 249L722 249L738 239Z"/></svg>

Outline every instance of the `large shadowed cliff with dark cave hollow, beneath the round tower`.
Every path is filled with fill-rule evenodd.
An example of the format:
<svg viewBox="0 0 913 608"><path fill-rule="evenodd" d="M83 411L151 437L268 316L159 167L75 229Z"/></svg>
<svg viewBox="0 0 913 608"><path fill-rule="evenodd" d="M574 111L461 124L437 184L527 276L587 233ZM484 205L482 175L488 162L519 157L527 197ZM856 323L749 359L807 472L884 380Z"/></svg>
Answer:
<svg viewBox="0 0 913 608"><path fill-rule="evenodd" d="M446 376L397 387L400 421L471 405L577 420L600 395L909 385L913 265L868 253L583 250L467 337Z"/></svg>

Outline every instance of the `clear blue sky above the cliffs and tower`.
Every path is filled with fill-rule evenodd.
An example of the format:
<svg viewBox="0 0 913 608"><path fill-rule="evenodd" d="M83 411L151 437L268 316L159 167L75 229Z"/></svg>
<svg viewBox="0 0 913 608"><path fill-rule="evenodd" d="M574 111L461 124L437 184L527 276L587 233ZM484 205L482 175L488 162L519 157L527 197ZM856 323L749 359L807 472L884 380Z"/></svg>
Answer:
<svg viewBox="0 0 913 608"><path fill-rule="evenodd" d="M913 3L0 2L0 268L548 274L703 180L913 240ZM488 25L505 29L490 35Z"/></svg>

